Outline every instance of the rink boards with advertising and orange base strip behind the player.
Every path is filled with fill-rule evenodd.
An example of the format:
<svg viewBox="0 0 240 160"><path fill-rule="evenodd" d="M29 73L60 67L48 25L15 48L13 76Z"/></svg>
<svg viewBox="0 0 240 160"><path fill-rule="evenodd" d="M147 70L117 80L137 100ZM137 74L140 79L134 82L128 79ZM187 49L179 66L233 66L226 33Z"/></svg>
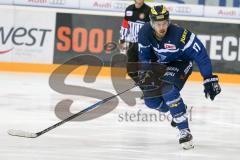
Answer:
<svg viewBox="0 0 240 160"><path fill-rule="evenodd" d="M120 54L119 29L123 14L114 12L0 6L0 70L51 73L80 55L103 63L100 76L110 76L112 59ZM28 21L24 19L28 17ZM176 17L206 46L221 82L240 83L240 22L236 19ZM123 55L124 56L124 55ZM88 63L88 62L86 62ZM119 60L119 63L123 63ZM68 63L71 64L71 63ZM190 80L201 81L197 67ZM77 74L83 74L81 71Z"/></svg>

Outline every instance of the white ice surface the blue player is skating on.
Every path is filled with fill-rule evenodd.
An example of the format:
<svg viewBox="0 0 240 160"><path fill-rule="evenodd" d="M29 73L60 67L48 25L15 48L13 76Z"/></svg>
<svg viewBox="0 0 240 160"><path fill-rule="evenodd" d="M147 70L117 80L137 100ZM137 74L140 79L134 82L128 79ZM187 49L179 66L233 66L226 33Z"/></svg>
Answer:
<svg viewBox="0 0 240 160"><path fill-rule="evenodd" d="M187 82L182 97L191 109L190 127L195 148L184 151L177 130L167 119L144 120L157 112L137 99L135 106L119 100L112 112L89 121L74 121L36 138L7 134L8 129L38 132L60 121L56 104L74 101L76 113L98 99L61 94L50 88L47 74L0 73L1 160L236 160L240 156L240 86L222 84L215 101L205 99L203 85ZM72 76L68 83L116 93L107 78L84 83ZM126 114L142 117L125 117Z"/></svg>

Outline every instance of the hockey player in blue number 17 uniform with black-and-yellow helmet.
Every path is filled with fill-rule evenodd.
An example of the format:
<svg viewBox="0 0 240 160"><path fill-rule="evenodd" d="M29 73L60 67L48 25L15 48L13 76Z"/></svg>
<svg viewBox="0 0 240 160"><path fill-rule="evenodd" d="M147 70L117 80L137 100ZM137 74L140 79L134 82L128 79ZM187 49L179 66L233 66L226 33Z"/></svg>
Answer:
<svg viewBox="0 0 240 160"><path fill-rule="evenodd" d="M172 123L179 130L179 143L183 149L194 148L186 105L180 91L192 72L192 61L195 61L204 79L206 98L214 100L221 92L218 76L212 73L206 48L194 33L172 24L169 12L163 5L151 8L150 23L140 29L138 45L140 62L150 62L152 57L157 56L157 62L166 66L162 77L154 71L151 71L152 74L148 71L141 72L142 79L149 75L152 77L151 85L160 78L163 83L161 96L146 97L143 91L145 105L160 112L170 111Z"/></svg>

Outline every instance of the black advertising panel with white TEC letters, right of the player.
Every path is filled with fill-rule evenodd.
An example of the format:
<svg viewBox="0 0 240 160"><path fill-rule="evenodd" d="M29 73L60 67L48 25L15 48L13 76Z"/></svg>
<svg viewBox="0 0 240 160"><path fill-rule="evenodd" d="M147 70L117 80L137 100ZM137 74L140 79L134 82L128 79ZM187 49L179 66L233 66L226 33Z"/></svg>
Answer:
<svg viewBox="0 0 240 160"><path fill-rule="evenodd" d="M174 22L194 32L203 42L214 72L240 73L240 24Z"/></svg>

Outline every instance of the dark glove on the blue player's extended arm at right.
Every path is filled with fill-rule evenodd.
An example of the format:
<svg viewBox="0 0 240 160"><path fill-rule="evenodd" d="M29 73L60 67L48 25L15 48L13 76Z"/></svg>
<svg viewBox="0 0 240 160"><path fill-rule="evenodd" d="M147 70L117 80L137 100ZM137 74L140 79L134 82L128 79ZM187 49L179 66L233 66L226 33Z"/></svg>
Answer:
<svg viewBox="0 0 240 160"><path fill-rule="evenodd" d="M211 100L214 100L215 96L221 92L221 87L218 84L218 81L217 75L204 79L203 85L206 98L210 97Z"/></svg>

